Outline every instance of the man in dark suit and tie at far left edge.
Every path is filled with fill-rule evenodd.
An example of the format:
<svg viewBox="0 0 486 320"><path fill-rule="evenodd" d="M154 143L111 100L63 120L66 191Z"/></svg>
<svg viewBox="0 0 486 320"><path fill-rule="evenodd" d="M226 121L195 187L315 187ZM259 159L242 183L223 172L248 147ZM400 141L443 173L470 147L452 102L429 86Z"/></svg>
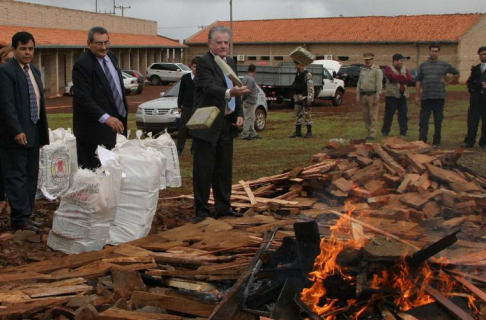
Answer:
<svg viewBox="0 0 486 320"><path fill-rule="evenodd" d="M30 219L39 174L39 147L49 144L41 74L31 64L35 40L12 37L14 59L0 68L0 158L13 230L39 231Z"/></svg>

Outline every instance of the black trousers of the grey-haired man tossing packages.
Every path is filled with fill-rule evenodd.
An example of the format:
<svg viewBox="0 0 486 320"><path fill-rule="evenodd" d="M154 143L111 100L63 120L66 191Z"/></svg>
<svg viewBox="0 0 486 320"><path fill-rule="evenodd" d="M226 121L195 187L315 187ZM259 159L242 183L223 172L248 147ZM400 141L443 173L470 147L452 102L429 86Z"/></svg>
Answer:
<svg viewBox="0 0 486 320"><path fill-rule="evenodd" d="M231 183L233 174L233 136L231 117L224 117L216 143L193 138L193 188L196 216L210 215L209 194L213 188L216 212L231 209Z"/></svg>

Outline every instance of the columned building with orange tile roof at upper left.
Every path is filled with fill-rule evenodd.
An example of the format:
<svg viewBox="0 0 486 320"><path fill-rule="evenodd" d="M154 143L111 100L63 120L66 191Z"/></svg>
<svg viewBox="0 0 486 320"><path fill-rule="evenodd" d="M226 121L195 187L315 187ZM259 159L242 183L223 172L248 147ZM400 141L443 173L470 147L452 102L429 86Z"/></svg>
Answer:
<svg viewBox="0 0 486 320"><path fill-rule="evenodd" d="M157 22L65 9L13 0L0 0L0 47L10 45L19 31L34 35L34 63L39 66L46 96L64 92L76 59L87 50L88 30L103 26L122 69L139 70L153 62L180 62L186 45L157 35Z"/></svg>

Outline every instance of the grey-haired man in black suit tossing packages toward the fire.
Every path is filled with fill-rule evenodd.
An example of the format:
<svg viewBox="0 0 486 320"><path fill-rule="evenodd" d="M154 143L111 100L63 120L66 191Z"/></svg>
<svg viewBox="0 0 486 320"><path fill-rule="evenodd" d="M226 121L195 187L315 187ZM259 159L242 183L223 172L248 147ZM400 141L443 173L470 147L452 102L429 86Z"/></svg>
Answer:
<svg viewBox="0 0 486 320"><path fill-rule="evenodd" d="M215 217L241 216L231 210L231 183L233 172L233 139L243 125L240 97L249 93L246 86L235 87L214 61L218 55L236 71L236 63L227 57L231 31L223 26L209 31L209 52L197 62L194 108L216 106L219 114L209 129L191 130L194 152L193 184L196 218L208 217L211 186L216 203Z"/></svg>

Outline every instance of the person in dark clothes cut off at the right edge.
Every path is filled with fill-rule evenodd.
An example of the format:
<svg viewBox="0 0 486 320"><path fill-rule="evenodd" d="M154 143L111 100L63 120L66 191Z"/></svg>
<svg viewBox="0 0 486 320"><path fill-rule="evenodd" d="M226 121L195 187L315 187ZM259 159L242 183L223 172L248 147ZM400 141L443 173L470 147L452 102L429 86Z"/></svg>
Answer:
<svg viewBox="0 0 486 320"><path fill-rule="evenodd" d="M479 120L481 120L481 138L479 146L486 149L486 47L478 50L480 64L472 67L467 79L467 89L470 94L469 110L467 112L467 135L463 148L472 148L476 142Z"/></svg>

